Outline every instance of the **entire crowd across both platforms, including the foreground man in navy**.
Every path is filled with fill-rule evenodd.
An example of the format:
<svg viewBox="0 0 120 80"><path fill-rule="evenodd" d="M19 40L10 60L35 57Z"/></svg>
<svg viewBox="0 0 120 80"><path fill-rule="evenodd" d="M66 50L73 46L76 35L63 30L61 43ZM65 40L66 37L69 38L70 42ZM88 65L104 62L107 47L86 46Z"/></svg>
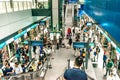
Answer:
<svg viewBox="0 0 120 80"><path fill-rule="evenodd" d="M68 69L64 73L64 78L66 80L87 80L88 75L80 70L82 63L86 57L88 52L89 57L92 58L93 62L98 61L99 54L101 49L97 44L97 34L94 32L94 25L87 26L89 19L87 16L83 16L83 19L80 21L80 27L72 27L67 29L66 38L68 39L67 44L64 43L64 37L62 35L59 36L59 39L50 40L49 38L43 38L43 46L32 46L31 54L32 59L35 59L35 62L27 70L26 67L30 62L29 58L29 46L24 45L22 47L17 47L15 57L17 59L16 62L5 60L2 68L0 69L0 77L2 76L11 76L16 74L21 74L25 72L33 72L39 70L44 62L48 59L49 56L52 55L52 51L56 51L59 48L71 48L72 43L75 42L92 42L94 46L89 47L89 49L85 48L74 48L75 56L75 66L73 69ZM74 38L75 40L73 40ZM38 39L39 40L39 39ZM88 51L87 51L88 50ZM91 53L94 51L93 53ZM1 61L2 59L0 59ZM37 65L36 65L37 64ZM120 63L119 63L120 65ZM104 76L107 77L107 80L115 80L113 76L116 75L116 67L114 66L114 62L107 56L106 51L103 53L103 68L106 68L106 73ZM120 68L118 66L117 68ZM77 73L76 73L77 72ZM71 73L71 74L70 74Z"/></svg>

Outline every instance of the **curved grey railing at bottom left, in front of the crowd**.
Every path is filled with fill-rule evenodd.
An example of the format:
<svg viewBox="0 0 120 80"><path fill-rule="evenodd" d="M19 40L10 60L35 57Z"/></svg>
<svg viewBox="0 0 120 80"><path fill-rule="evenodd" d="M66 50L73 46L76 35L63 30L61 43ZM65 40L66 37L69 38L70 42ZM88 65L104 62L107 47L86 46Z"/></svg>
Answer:
<svg viewBox="0 0 120 80"><path fill-rule="evenodd" d="M48 60L41 66L40 69L33 72L26 72L11 76L2 77L1 80L45 80L45 75L48 69Z"/></svg>

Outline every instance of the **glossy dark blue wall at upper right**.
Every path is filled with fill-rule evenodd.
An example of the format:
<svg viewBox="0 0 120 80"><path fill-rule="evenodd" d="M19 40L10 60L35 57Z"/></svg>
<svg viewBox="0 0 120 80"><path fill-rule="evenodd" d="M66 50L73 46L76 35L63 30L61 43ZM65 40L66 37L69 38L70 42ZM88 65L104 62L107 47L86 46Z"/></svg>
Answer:
<svg viewBox="0 0 120 80"><path fill-rule="evenodd" d="M120 0L85 0L84 9L120 43Z"/></svg>

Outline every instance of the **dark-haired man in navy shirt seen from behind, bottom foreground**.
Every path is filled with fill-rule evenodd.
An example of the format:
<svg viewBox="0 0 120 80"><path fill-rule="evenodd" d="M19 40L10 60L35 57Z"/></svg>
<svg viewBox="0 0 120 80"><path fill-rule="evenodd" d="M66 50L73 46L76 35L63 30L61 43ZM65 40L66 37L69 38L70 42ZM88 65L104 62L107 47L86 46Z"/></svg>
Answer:
<svg viewBox="0 0 120 80"><path fill-rule="evenodd" d="M75 59L74 67L72 69L67 69L64 73L65 80L87 80L87 74L80 70L83 63L83 58L78 56Z"/></svg>

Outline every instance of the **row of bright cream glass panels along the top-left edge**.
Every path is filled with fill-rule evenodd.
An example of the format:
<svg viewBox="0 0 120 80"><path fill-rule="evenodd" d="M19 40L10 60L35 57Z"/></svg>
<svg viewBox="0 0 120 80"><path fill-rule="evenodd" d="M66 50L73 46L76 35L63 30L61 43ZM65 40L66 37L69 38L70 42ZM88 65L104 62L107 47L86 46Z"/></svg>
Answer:
<svg viewBox="0 0 120 80"><path fill-rule="evenodd" d="M0 0L0 14L32 8L48 9L48 0Z"/></svg>

